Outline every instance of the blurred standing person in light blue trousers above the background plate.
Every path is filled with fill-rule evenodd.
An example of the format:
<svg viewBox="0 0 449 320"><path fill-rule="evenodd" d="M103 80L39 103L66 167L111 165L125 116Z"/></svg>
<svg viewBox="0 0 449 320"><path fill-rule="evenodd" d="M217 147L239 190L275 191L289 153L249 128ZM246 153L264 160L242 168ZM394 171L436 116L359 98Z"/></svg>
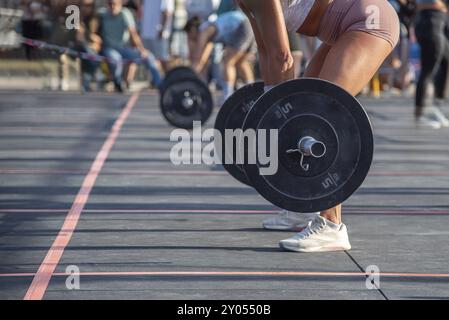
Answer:
<svg viewBox="0 0 449 320"><path fill-rule="evenodd" d="M141 35L150 50L167 72L170 62L170 36L173 27L175 0L145 0Z"/></svg>

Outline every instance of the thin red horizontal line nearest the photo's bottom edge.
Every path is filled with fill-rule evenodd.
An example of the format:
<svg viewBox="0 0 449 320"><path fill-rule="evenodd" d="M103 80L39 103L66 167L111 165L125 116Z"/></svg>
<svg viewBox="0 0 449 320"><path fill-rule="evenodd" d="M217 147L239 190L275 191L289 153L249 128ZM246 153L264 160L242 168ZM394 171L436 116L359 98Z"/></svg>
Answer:
<svg viewBox="0 0 449 320"><path fill-rule="evenodd" d="M2 273L0 278L32 277L35 273ZM363 272L301 272L301 271L123 271L123 272L81 272L81 273L53 273L53 276L64 277L78 275L80 277L202 277L202 276L269 276L269 277L366 277L372 273ZM380 277L390 278L449 278L447 273L404 273L384 272Z"/></svg>

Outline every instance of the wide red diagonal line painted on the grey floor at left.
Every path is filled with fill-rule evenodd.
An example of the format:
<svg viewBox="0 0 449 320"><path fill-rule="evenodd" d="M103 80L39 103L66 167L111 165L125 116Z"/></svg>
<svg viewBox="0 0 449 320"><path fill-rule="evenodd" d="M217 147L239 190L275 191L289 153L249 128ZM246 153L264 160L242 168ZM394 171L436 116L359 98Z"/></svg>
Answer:
<svg viewBox="0 0 449 320"><path fill-rule="evenodd" d="M67 214L64 224L61 227L61 230L64 231L59 232L55 241L53 242L53 245L47 252L44 261L40 265L30 287L28 288L24 300L41 300L44 297L50 279L59 261L61 260L64 249L67 247L70 239L72 238L81 213L83 212L87 200L89 199L89 195L95 185L98 175L103 168L104 163L106 162L106 159L115 144L115 141L117 140L117 137L120 133L121 128L123 127L125 120L128 118L138 99L139 94L132 95L125 109L122 111L122 113L114 123L114 126L112 127L111 132L108 135L108 138L98 152L95 161L93 162L89 173L85 177L81 189L79 190L78 195L76 196L75 201L73 202L73 205Z"/></svg>

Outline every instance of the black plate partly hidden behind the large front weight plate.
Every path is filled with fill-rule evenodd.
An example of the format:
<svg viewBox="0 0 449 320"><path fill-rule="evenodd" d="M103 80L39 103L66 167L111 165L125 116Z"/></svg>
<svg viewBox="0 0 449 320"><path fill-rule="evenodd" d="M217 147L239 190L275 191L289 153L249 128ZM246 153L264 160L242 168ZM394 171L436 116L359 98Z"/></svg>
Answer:
<svg viewBox="0 0 449 320"><path fill-rule="evenodd" d="M250 185L250 183L243 171L243 167L240 164L237 164L237 141L234 139L232 139L232 141L227 141L225 139L226 129L241 129L247 113L263 92L263 82L252 83L240 88L225 101L215 121L215 129L218 130L221 135L220 140L215 140L221 142L221 144L216 145L215 148L219 159L221 160L223 167L231 174L231 176L247 185Z"/></svg>

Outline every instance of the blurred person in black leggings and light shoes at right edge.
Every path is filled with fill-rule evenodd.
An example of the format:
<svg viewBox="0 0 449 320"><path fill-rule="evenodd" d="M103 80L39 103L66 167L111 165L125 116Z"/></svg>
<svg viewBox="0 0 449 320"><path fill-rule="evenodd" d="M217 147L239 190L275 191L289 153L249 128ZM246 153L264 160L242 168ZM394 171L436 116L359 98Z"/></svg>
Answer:
<svg viewBox="0 0 449 320"><path fill-rule="evenodd" d="M420 127L449 127L449 120L429 97L430 86L443 60L449 58L447 5L442 0L416 0L418 16L416 38L421 47L421 74L416 87L415 117ZM435 96L444 94L445 81L435 83ZM441 86L441 87L439 87ZM440 95L440 96L438 96Z"/></svg>

